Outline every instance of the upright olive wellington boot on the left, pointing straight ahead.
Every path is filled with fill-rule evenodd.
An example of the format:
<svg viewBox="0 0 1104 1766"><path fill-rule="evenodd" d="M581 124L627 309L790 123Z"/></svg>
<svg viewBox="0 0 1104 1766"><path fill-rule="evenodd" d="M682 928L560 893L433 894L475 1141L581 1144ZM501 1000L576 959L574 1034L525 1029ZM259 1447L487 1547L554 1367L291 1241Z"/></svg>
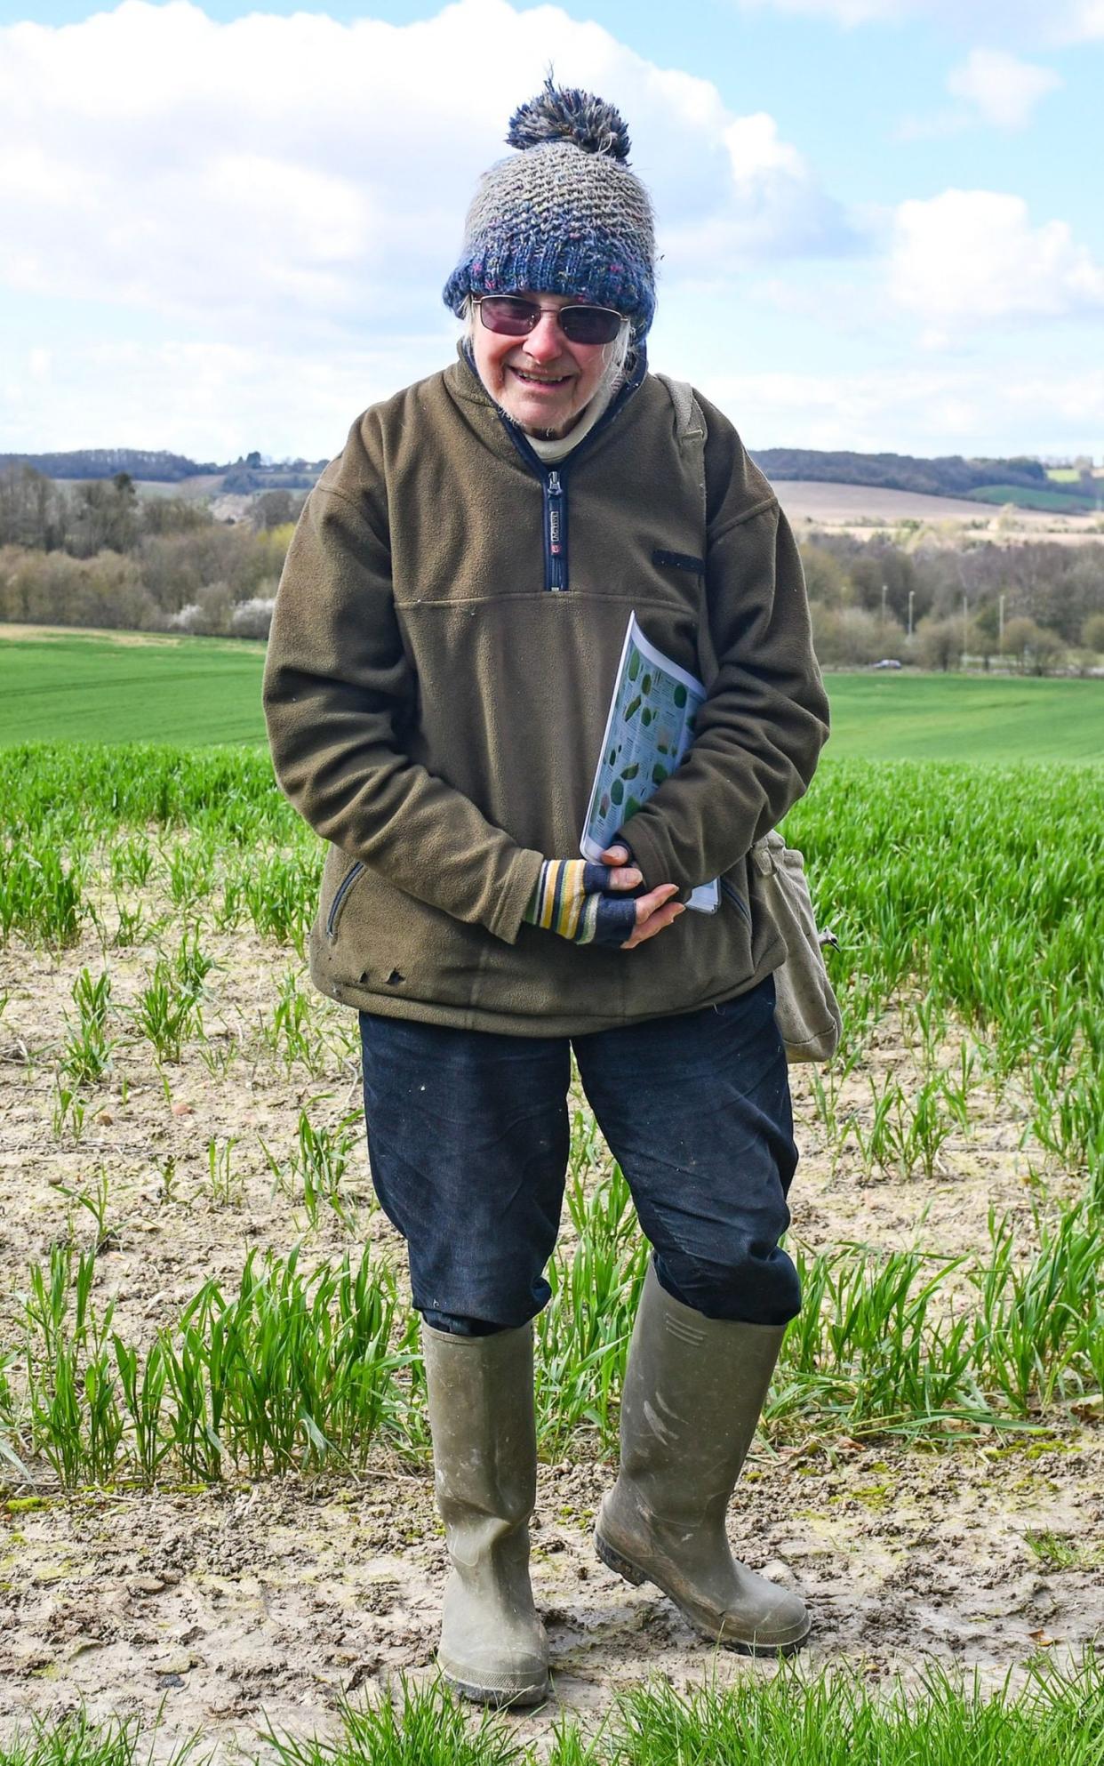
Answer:
<svg viewBox="0 0 1104 1766"><path fill-rule="evenodd" d="M436 1503L452 1574L438 1664L480 1704L548 1697L548 1639L528 1579L537 1496L533 1328L452 1337L422 1326Z"/></svg>

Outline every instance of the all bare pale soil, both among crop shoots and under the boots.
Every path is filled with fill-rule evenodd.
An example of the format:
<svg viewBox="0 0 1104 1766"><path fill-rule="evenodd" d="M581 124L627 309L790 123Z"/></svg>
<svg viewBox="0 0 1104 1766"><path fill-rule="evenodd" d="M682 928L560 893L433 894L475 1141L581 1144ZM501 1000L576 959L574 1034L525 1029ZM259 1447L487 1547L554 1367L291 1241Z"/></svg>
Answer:
<svg viewBox="0 0 1104 1766"><path fill-rule="evenodd" d="M19 1340L28 1264L65 1236L95 1243L78 1197L102 1178L95 1302L115 1298L115 1328L129 1340L148 1340L207 1277L233 1284L251 1247L286 1254L302 1238L306 1268L346 1247L355 1254L364 1240L397 1250L359 1141L343 1183L346 1219L323 1206L318 1229L302 1201L274 1185L261 1146L290 1169L300 1109L318 1127L355 1116L355 1019L313 1001L316 1072L302 1061L288 1068L261 1026L288 970L302 980L300 964L201 918L200 943L214 957L203 1038L159 1068L129 1012L157 948L177 948L180 920L159 901L157 878L145 906L166 918L136 947L111 947L104 895L106 955L95 934L60 955L0 950L0 1344ZM76 1021L72 984L83 966L95 977L104 962L118 1042L76 1137L71 1118L55 1121L57 1063L67 1019ZM940 1060L957 1061L959 1044L949 1033ZM954 1256L987 1243L996 1208L1032 1249L1033 1210L1069 1194L1070 1181L1025 1136L1017 1088L998 1093L984 1047L973 1056L968 1127L947 1139L931 1178L867 1171L853 1139L832 1148L811 1075L795 1075L798 1240L813 1250L864 1241ZM862 1123L871 1075L881 1084L892 1070L908 1084L917 1061L908 1014L894 1010L843 1083L839 1114ZM805 1660L843 1657L871 1676L915 1678L934 1658L993 1683L1037 1649L1076 1653L1097 1637L1104 1436L1078 1418L1053 1422L1042 1436L993 1434L952 1450L816 1432L760 1446L731 1536L754 1568L807 1593L816 1628ZM265 1752L256 1741L265 1722L325 1731L341 1694L371 1697L399 1669L433 1672L445 1561L426 1473L380 1455L359 1478L60 1496L48 1468L30 1471L28 1482L0 1475L0 1741L26 1713L58 1715L81 1699L95 1715L147 1720L164 1702L155 1757L200 1729L228 1762ZM548 1734L563 1708L597 1715L620 1685L648 1674L722 1683L770 1672L698 1642L654 1589L632 1589L597 1563L590 1522L609 1475L586 1460L541 1469L533 1582L556 1697L514 1720L523 1736Z"/></svg>

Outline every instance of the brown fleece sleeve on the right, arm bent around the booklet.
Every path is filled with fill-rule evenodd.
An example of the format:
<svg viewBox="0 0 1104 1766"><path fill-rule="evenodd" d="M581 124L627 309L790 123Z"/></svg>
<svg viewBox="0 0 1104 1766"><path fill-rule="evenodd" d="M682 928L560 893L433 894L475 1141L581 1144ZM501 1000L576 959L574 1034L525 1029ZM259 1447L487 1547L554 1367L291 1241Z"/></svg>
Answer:
<svg viewBox="0 0 1104 1766"><path fill-rule="evenodd" d="M728 420L707 443L708 698L678 770L625 826L650 887L722 876L807 789L828 735L797 542ZM710 655L712 652L712 655Z"/></svg>

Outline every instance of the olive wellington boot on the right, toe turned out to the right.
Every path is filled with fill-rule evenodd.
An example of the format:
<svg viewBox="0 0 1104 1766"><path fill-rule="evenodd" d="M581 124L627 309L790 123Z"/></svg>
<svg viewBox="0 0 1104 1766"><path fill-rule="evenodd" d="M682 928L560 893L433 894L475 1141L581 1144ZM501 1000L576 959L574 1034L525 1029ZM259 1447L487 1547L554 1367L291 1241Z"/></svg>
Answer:
<svg viewBox="0 0 1104 1766"><path fill-rule="evenodd" d="M784 1326L707 1319L648 1268L622 1397L622 1466L595 1543L654 1582L694 1630L745 1655L790 1655L805 1604L738 1563L724 1515L763 1409Z"/></svg>

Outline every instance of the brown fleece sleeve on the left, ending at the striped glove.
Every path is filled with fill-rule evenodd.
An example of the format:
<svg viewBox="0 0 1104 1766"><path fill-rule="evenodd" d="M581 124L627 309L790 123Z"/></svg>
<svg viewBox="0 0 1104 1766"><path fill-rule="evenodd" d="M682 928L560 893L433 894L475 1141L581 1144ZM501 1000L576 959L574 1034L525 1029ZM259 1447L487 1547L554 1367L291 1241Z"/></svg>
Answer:
<svg viewBox="0 0 1104 1766"><path fill-rule="evenodd" d="M350 452L311 491L288 549L265 662L281 789L327 841L408 895L514 943L542 855L410 759L417 680L390 583L385 510L350 484ZM344 461L344 470L343 470Z"/></svg>

